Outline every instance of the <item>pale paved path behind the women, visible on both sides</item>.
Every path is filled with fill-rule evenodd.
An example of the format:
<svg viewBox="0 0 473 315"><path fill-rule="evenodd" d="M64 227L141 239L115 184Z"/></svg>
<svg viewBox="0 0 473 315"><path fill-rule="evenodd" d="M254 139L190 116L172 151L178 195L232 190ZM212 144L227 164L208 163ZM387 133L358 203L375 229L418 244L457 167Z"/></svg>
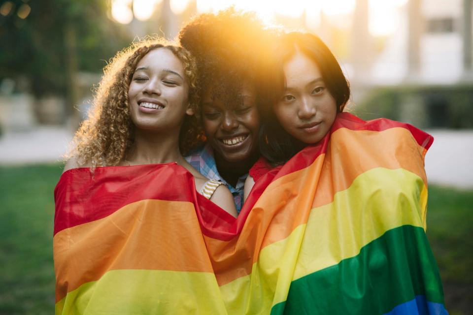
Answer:
<svg viewBox="0 0 473 315"><path fill-rule="evenodd" d="M473 130L429 130L435 138L425 167L429 183L473 189ZM0 164L60 161L72 132L60 127L37 127L0 138Z"/></svg>

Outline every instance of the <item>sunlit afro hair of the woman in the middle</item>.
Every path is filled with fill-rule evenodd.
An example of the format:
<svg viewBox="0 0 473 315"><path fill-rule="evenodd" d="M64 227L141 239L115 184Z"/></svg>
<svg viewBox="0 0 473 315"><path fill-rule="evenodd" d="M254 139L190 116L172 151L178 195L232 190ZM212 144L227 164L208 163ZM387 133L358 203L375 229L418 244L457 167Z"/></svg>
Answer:
<svg viewBox="0 0 473 315"><path fill-rule="evenodd" d="M179 40L197 59L201 93L236 104L247 83L255 86L258 103L265 99L272 35L254 12L231 7L198 15L181 29Z"/></svg>

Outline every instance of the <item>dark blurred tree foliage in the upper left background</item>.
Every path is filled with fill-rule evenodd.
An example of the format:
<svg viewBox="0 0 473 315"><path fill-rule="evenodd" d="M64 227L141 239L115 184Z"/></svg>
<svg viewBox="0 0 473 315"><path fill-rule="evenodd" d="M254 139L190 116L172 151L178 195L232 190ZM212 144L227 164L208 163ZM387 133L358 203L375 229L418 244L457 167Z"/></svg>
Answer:
<svg viewBox="0 0 473 315"><path fill-rule="evenodd" d="M100 72L104 60L129 44L124 29L107 17L106 0L1 0L0 7L6 2L0 79L26 78L36 98L64 95L68 113L78 101L77 71Z"/></svg>

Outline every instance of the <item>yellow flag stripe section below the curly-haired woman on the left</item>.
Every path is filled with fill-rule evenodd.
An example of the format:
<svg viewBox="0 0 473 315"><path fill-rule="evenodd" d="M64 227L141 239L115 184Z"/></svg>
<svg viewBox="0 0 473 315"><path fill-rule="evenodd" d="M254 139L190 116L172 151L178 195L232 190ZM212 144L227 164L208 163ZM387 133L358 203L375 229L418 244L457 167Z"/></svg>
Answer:
<svg viewBox="0 0 473 315"><path fill-rule="evenodd" d="M58 314L226 314L215 276L203 272L112 270L56 304Z"/></svg>

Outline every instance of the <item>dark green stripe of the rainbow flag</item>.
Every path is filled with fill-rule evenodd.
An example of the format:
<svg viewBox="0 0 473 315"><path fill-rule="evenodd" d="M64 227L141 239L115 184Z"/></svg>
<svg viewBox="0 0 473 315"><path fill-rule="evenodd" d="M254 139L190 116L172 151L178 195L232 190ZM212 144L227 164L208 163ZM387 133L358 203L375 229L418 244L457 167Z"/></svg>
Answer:
<svg viewBox="0 0 473 315"><path fill-rule="evenodd" d="M425 295L444 304L437 263L423 228L391 229L354 257L291 283L271 314L384 314Z"/></svg>

